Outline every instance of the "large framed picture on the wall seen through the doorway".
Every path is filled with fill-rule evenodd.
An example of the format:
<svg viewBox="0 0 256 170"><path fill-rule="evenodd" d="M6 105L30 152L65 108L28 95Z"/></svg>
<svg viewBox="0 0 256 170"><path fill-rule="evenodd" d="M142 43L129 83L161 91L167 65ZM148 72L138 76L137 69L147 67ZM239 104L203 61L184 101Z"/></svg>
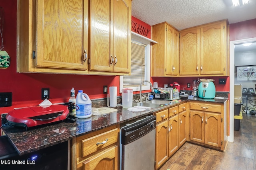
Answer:
<svg viewBox="0 0 256 170"><path fill-rule="evenodd" d="M236 66L237 82L256 82L256 65Z"/></svg>

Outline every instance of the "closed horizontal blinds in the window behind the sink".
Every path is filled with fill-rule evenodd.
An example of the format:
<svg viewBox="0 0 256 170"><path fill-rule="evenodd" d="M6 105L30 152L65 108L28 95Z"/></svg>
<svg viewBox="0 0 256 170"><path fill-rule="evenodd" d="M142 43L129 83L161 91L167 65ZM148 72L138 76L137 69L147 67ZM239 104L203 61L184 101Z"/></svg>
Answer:
<svg viewBox="0 0 256 170"><path fill-rule="evenodd" d="M124 88L140 86L142 81L147 80L146 45L132 41L131 47L131 75L123 76Z"/></svg>

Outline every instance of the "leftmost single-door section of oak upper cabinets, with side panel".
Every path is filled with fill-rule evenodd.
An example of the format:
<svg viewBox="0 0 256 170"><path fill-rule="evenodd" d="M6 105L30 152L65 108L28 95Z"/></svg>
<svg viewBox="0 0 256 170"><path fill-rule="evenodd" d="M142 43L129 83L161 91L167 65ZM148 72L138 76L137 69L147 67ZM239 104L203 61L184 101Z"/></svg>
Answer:
<svg viewBox="0 0 256 170"><path fill-rule="evenodd" d="M87 70L88 2L18 0L17 71Z"/></svg>

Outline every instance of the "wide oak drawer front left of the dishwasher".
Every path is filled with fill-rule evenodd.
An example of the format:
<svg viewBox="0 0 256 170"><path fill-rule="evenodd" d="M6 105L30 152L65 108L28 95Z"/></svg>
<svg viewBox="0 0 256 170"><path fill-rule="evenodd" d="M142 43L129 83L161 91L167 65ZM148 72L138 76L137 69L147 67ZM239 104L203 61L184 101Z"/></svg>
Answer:
<svg viewBox="0 0 256 170"><path fill-rule="evenodd" d="M104 149L112 145L113 143L116 143L117 137L118 128L115 128L110 131L106 131L99 135L95 135L88 139L82 140L82 157L85 157L89 154L92 154L93 152L96 152L97 150ZM102 143L103 141L106 141L106 143L97 145L97 143Z"/></svg>

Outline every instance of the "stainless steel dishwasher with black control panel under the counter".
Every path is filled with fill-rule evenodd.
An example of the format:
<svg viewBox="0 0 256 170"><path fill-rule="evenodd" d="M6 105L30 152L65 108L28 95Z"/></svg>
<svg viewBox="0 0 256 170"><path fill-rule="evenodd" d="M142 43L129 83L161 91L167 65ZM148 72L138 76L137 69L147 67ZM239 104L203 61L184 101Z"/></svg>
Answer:
<svg viewBox="0 0 256 170"><path fill-rule="evenodd" d="M120 170L154 170L156 116L120 129Z"/></svg>

